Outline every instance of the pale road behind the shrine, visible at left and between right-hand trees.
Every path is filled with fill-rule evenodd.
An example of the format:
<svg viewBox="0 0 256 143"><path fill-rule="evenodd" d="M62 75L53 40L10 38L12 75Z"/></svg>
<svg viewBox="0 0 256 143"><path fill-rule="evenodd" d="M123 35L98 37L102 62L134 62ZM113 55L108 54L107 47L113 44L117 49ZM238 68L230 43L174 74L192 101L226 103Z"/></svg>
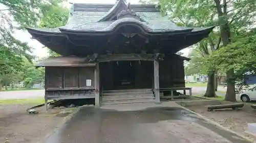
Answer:
<svg viewBox="0 0 256 143"><path fill-rule="evenodd" d="M204 94L206 87L191 87L193 88L193 93ZM219 87L219 91L226 91L225 88ZM224 93L217 93L219 96L225 96ZM26 98L36 98L44 97L45 90L29 90L29 91L8 91L0 92L0 99L26 99Z"/></svg>

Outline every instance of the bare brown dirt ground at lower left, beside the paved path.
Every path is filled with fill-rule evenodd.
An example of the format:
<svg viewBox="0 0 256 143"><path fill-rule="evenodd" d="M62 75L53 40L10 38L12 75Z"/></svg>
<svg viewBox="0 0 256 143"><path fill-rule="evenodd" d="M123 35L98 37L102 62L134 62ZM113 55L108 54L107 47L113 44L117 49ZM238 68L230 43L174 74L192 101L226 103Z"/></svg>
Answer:
<svg viewBox="0 0 256 143"><path fill-rule="evenodd" d="M45 112L43 107L36 108L39 113L32 115L26 111L31 106L0 105L0 142L35 143L51 133L68 116L58 116L61 109Z"/></svg>

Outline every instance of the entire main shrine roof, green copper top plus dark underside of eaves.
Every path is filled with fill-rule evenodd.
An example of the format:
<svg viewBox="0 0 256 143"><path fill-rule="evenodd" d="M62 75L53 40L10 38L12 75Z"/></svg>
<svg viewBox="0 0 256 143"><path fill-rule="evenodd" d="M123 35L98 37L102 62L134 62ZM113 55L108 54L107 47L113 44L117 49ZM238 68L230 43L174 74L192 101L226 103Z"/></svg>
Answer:
<svg viewBox="0 0 256 143"><path fill-rule="evenodd" d="M148 46L157 44L161 52L175 53L207 37L213 28L177 26L155 5L130 5L119 0L115 5L73 4L66 25L56 28L27 27L27 30L34 39L61 55L83 56L95 50L105 51L100 44L95 47L98 43L94 44L92 40L103 40L101 42L106 45L115 33L123 35L122 39L133 33L144 38L138 42L150 41L153 43Z"/></svg>

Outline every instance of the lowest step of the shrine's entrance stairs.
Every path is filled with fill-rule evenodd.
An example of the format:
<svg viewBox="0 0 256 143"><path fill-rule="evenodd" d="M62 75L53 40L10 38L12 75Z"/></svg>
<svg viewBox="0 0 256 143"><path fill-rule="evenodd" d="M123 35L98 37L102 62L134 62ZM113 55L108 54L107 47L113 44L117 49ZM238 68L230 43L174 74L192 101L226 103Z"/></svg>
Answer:
<svg viewBox="0 0 256 143"><path fill-rule="evenodd" d="M137 100L118 100L118 101L104 101L101 105L112 104L131 104L131 103L154 103L155 99L137 99Z"/></svg>

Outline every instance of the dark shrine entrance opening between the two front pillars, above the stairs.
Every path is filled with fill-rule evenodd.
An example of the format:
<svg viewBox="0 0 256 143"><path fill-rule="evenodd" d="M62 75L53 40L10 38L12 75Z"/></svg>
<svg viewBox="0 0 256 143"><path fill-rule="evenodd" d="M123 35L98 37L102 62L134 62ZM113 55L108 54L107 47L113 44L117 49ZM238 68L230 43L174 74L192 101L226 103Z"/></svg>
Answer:
<svg viewBox="0 0 256 143"><path fill-rule="evenodd" d="M152 89L153 61L113 61L100 63L102 90Z"/></svg>

